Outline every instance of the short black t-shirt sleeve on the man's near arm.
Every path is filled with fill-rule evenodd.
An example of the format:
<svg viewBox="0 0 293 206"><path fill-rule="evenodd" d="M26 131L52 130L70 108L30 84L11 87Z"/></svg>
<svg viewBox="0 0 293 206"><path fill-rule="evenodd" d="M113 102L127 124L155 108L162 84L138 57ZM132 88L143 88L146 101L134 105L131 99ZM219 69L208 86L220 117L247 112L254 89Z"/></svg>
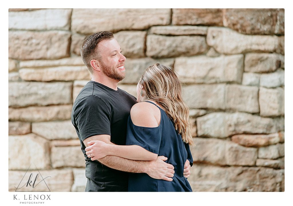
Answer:
<svg viewBox="0 0 293 206"><path fill-rule="evenodd" d="M97 96L83 98L74 109L74 119L82 141L94 135L111 135L110 109Z"/></svg>

